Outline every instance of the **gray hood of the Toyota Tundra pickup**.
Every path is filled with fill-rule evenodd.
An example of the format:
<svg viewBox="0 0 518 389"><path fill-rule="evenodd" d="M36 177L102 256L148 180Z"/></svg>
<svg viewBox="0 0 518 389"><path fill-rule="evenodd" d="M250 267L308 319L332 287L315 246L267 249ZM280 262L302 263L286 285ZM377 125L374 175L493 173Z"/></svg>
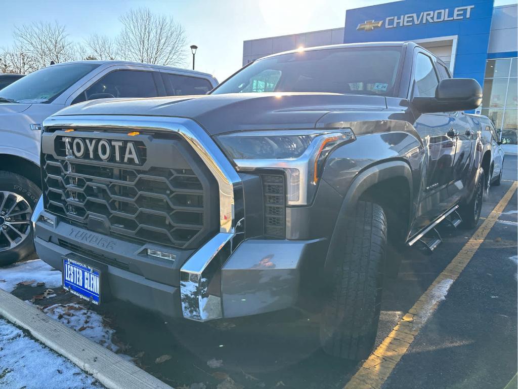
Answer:
<svg viewBox="0 0 518 389"><path fill-rule="evenodd" d="M386 109L383 96L337 93L230 93L151 99L103 99L70 106L54 116L143 115L190 118L210 134L314 128L329 112Z"/></svg>

